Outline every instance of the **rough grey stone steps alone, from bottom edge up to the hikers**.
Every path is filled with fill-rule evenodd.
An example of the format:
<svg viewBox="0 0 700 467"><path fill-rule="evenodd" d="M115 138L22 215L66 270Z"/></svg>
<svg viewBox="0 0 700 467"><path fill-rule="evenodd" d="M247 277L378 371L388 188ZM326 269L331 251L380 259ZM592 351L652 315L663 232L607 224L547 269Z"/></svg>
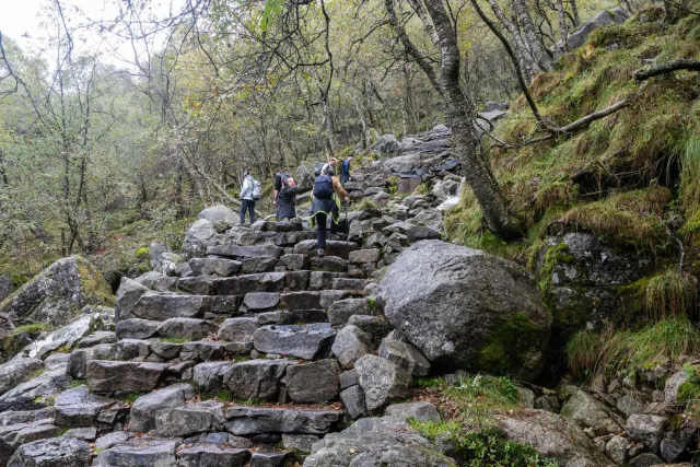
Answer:
<svg viewBox="0 0 700 467"><path fill-rule="evenodd" d="M364 292L380 250L329 241L317 257L301 223L234 229L254 245L210 246L161 290L125 279L118 341L71 353L68 373L85 385L56 399L57 424L147 433L93 465L278 466L347 422L340 394L358 382L342 367L357 359L338 351L339 362L334 342L350 317L385 334ZM299 241L266 243L280 236Z"/></svg>

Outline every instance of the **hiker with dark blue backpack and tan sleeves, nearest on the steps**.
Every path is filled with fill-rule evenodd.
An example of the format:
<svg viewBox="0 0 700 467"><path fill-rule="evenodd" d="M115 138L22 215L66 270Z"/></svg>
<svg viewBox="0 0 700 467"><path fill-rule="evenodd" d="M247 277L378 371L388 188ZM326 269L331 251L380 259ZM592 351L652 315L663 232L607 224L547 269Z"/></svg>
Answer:
<svg viewBox="0 0 700 467"><path fill-rule="evenodd" d="M348 191L342 189L340 180L336 177L330 166L324 166L320 175L314 182L314 191L311 205L311 226L318 224L316 243L318 256L326 255L326 221L330 215L330 234L338 232L340 222L340 202L349 201Z"/></svg>

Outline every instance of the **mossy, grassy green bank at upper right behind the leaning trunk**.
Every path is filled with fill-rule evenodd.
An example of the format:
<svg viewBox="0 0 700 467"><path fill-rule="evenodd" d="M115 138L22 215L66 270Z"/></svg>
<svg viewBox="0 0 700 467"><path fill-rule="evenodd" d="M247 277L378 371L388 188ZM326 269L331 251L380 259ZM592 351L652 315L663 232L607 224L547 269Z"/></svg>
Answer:
<svg viewBox="0 0 700 467"><path fill-rule="evenodd" d="M663 15L652 5L623 24L600 27L586 46L533 80L529 89L540 113L557 125L639 93L628 107L578 133L516 151L493 148L494 175L526 234L518 242L500 242L483 227L476 198L465 187L445 219L452 241L534 266L542 237L557 233L552 226L587 231L618 247L676 254L665 221L678 207L685 218L680 233L700 232L700 80L697 73L676 72L640 86L632 78L641 60L700 58L697 17L668 25ZM521 96L494 135L518 143L536 128Z"/></svg>

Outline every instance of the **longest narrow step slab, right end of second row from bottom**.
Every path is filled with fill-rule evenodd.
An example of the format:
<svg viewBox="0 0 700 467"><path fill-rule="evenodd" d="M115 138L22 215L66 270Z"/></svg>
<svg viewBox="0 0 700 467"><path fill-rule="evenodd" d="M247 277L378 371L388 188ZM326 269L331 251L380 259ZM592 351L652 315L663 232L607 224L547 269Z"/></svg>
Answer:
<svg viewBox="0 0 700 467"><path fill-rule="evenodd" d="M262 433L324 434L332 431L342 411L234 406L226 412L226 430L238 436Z"/></svg>

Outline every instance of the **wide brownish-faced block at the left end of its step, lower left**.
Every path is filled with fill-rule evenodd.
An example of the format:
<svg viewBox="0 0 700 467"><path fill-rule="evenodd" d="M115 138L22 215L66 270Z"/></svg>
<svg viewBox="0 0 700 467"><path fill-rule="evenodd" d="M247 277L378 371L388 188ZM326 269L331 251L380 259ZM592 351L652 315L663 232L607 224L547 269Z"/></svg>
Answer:
<svg viewBox="0 0 700 467"><path fill-rule="evenodd" d="M93 393L149 393L158 387L166 370L164 363L91 360L88 387Z"/></svg>

